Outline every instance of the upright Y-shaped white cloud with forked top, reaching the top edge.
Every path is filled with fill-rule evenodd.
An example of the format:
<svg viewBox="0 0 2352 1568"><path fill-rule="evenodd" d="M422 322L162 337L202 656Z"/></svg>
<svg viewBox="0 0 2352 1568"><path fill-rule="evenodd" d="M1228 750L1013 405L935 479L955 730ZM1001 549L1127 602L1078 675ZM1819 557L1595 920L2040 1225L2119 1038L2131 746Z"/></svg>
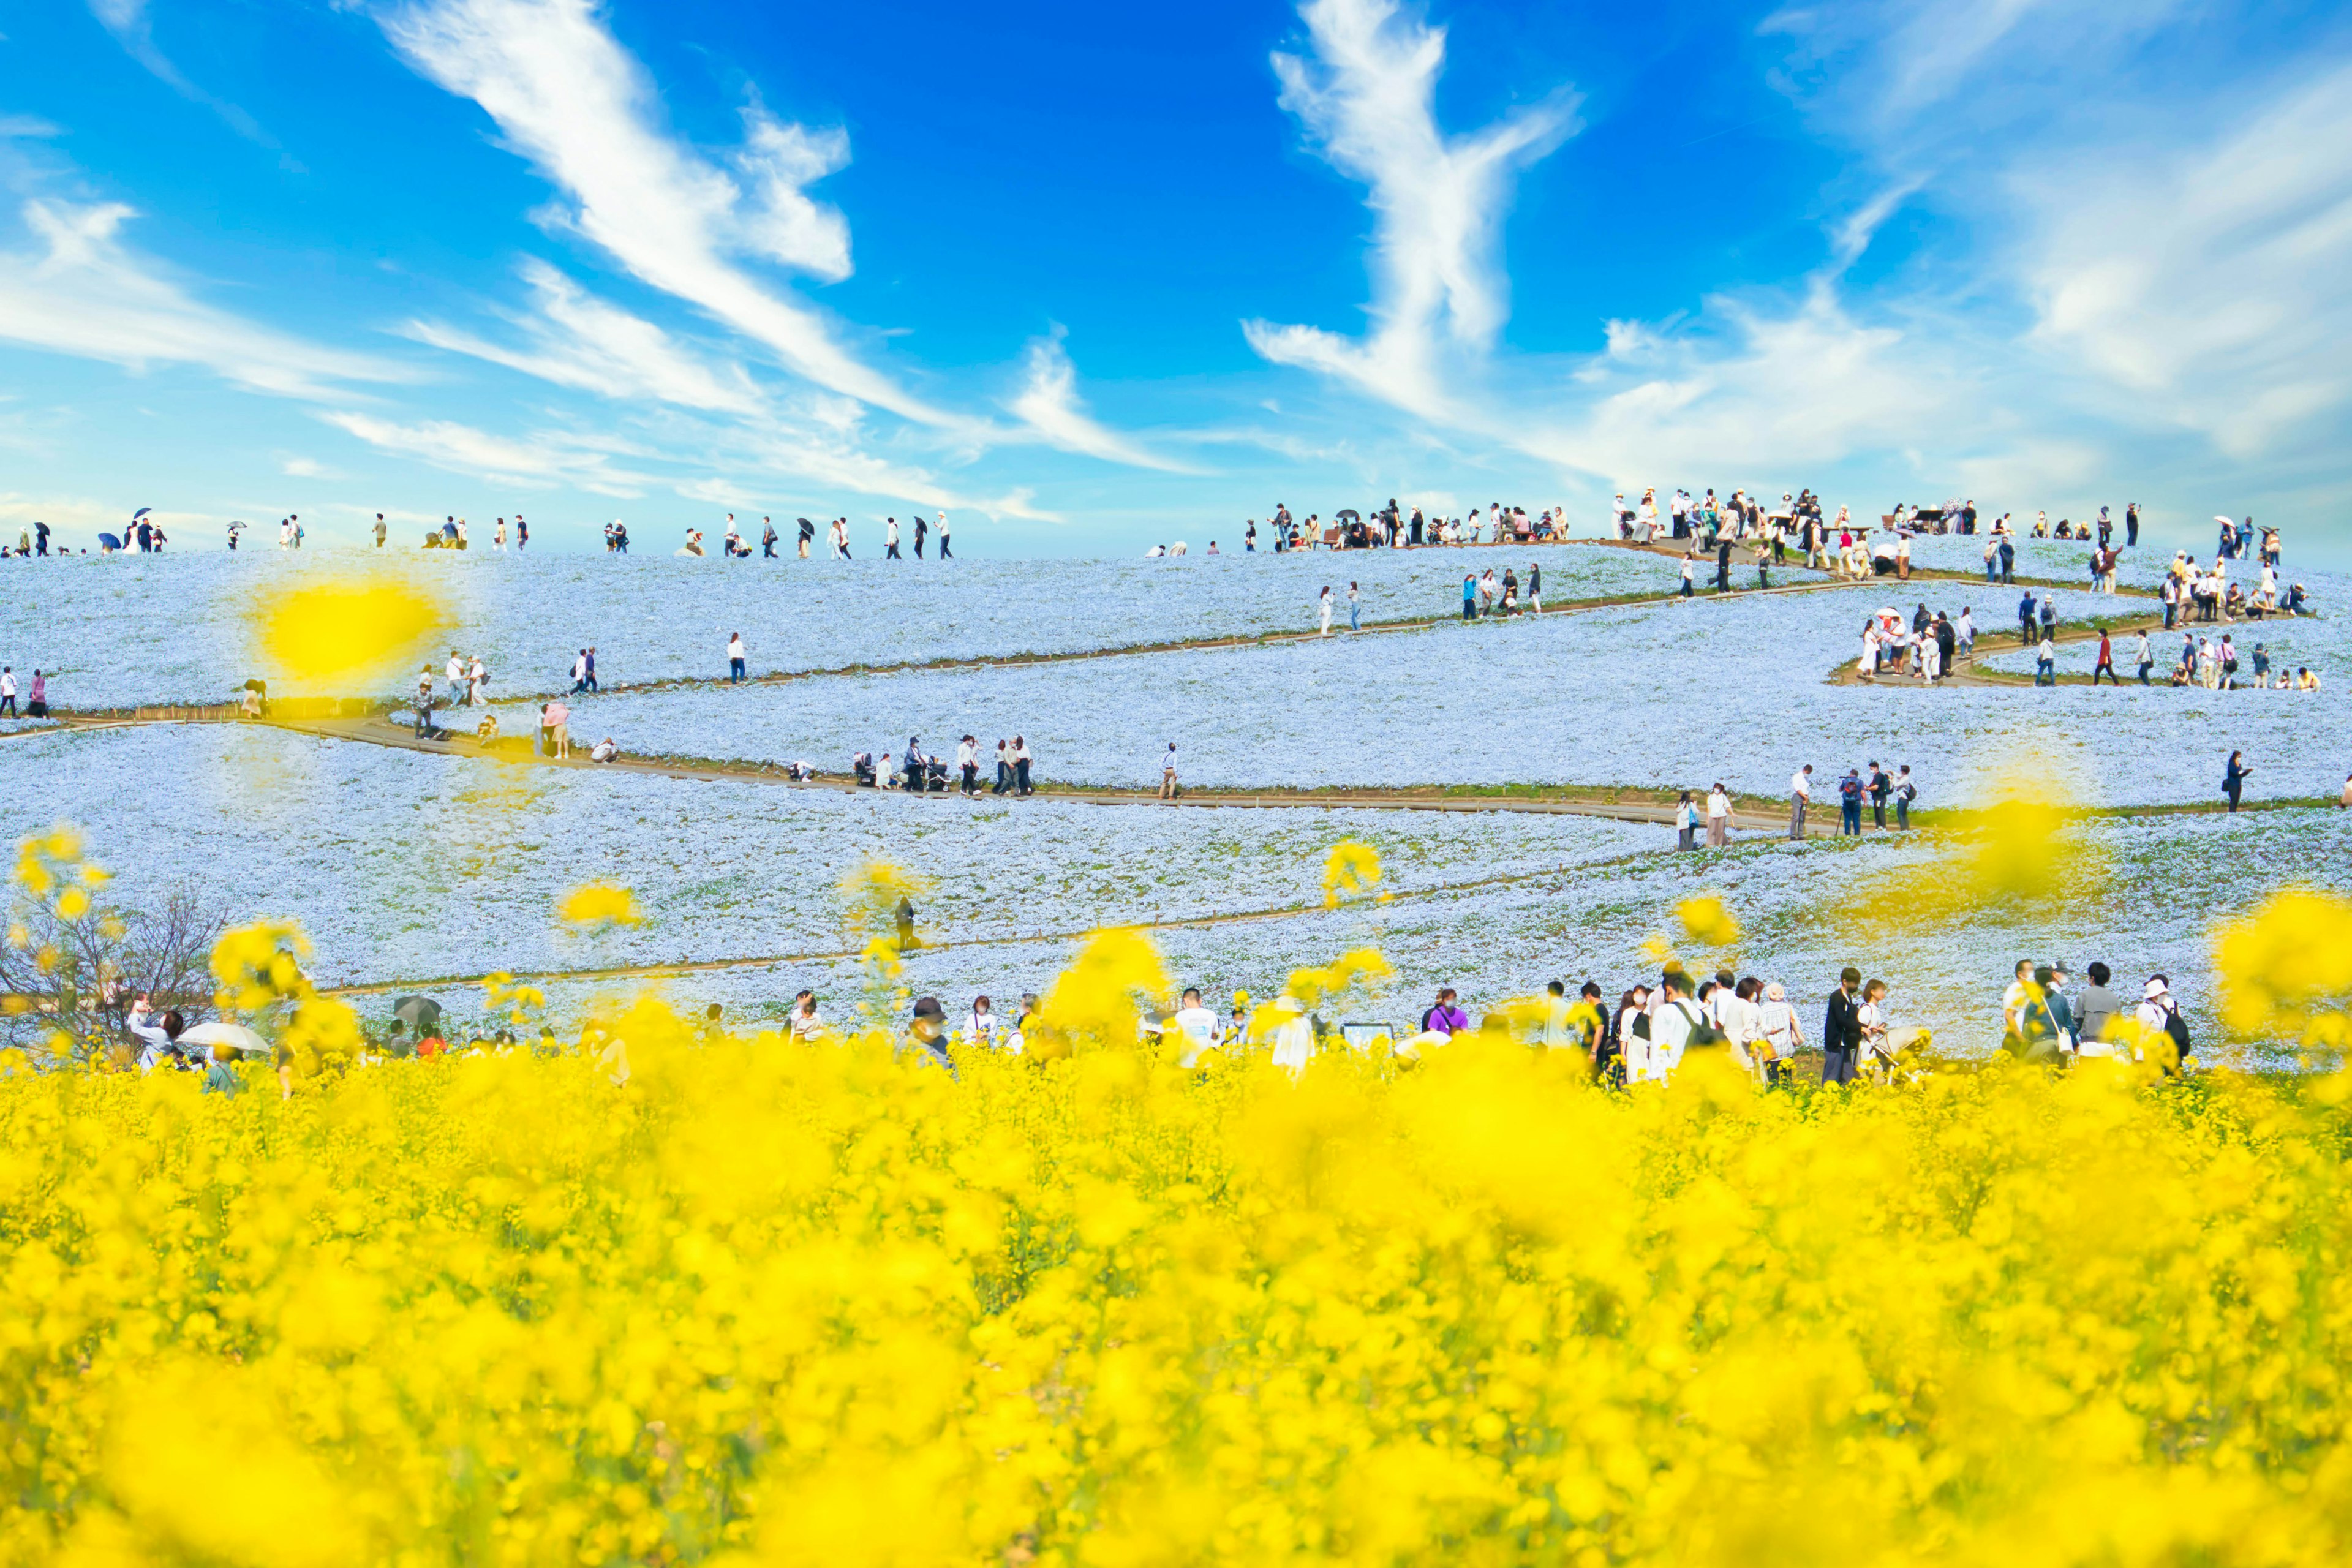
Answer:
<svg viewBox="0 0 2352 1568"><path fill-rule="evenodd" d="M1444 28L1395 0L1310 0L1301 7L1312 59L1275 54L1282 106L1334 169L1369 186L1374 212L1371 334L1251 320L1251 348L1357 383L1402 409L1437 416L1454 393L1446 362L1482 355L1508 317L1496 261L1512 174L1576 129L1576 101L1555 92L1482 132L1437 125Z"/></svg>

